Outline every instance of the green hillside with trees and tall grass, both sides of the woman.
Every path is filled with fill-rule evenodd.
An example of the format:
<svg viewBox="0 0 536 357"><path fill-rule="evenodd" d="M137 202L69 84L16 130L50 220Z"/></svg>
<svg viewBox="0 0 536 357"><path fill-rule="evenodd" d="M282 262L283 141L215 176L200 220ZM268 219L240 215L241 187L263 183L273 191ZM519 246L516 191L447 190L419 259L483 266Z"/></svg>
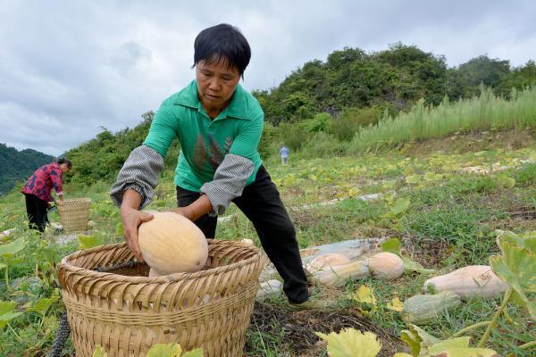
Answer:
<svg viewBox="0 0 536 357"><path fill-rule="evenodd" d="M347 47L329 54L325 62L306 62L278 87L253 91L266 122L259 151L268 159L284 143L293 154L302 151L307 157L356 155L367 147L402 145L415 134L423 140L429 135L445 137L458 129L534 127L530 113L523 114L522 121L517 119L519 111L501 112L499 119L485 118L490 111L509 111L514 103L530 112L534 91L523 95L523 90L533 84L536 64L532 61L512 68L507 60L482 55L448 68L443 56L425 53L416 46L396 44L370 54ZM424 123L409 137L401 136L415 129L411 122L418 121L423 112L437 117L435 122L448 114L450 118L442 121L452 126L427 130L431 123ZM132 129L116 133L105 129L67 152L73 162L67 182L91 185L114 179L130 151L147 136L153 116L152 111L142 114L141 122ZM396 123L403 122L409 124L400 130ZM375 134L381 130L384 134ZM178 151L175 142L165 159L166 169L174 167Z"/></svg>

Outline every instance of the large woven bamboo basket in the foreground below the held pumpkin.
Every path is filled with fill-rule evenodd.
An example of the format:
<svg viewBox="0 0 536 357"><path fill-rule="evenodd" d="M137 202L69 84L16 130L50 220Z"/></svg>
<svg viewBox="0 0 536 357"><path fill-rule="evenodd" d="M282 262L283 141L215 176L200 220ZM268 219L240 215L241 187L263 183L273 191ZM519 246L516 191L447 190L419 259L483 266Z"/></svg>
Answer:
<svg viewBox="0 0 536 357"><path fill-rule="evenodd" d="M77 357L101 345L110 357L145 356L151 345L202 347L204 356L241 357L266 258L239 242L209 240L205 269L147 278L142 263L114 273L94 271L133 259L125 243L63 258L63 286Z"/></svg>

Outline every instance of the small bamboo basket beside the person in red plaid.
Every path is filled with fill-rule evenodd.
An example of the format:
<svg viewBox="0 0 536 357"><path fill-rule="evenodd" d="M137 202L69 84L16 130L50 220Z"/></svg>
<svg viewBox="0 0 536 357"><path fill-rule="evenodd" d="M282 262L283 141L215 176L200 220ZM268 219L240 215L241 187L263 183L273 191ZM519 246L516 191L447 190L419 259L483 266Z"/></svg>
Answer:
<svg viewBox="0 0 536 357"><path fill-rule="evenodd" d="M65 233L81 232L88 227L89 198L77 198L55 203Z"/></svg>

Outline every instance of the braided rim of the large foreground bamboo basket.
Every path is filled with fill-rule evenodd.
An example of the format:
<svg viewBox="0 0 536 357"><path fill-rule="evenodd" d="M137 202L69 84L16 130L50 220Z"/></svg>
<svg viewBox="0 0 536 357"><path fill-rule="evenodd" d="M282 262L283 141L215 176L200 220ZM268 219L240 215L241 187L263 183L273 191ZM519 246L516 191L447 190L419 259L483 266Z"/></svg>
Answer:
<svg viewBox="0 0 536 357"><path fill-rule="evenodd" d="M229 240L218 240L218 239L207 239L209 245L214 244L220 244L220 242L225 242L227 244L231 245L237 245L241 248L250 248L252 250L255 250L255 255L252 257L249 257L247 259L241 260L240 262L232 262L230 264L216 267L216 268L209 268L206 270L199 270L195 272L180 272L180 273L174 273L170 275L165 275L161 277L142 277L142 276L127 276L127 275L120 275L120 274L114 274L110 272L99 272L96 270L88 270L86 268L81 268L76 265L71 264L71 260L75 258L79 258L80 256L87 255L89 253L95 253L99 251L111 251L113 249L120 249L127 245L126 242L123 243L113 243L110 245L99 245L93 248L89 249L82 249L80 251L71 253L65 257L63 257L62 262L58 265L58 270L69 270L71 272L75 272L77 274L85 275L88 278L99 278L101 280L110 281L110 282L130 282L132 284L144 284L144 283L172 283L176 281L181 280L189 280L189 279L196 279L196 278L203 278L206 276L211 275L217 275L222 274L230 270L237 270L240 269L246 265L255 264L256 262L259 262L261 259L263 261L261 263L265 262L264 254L261 253L260 249L252 246L252 245L246 245L241 242L235 242L235 241L229 241Z"/></svg>

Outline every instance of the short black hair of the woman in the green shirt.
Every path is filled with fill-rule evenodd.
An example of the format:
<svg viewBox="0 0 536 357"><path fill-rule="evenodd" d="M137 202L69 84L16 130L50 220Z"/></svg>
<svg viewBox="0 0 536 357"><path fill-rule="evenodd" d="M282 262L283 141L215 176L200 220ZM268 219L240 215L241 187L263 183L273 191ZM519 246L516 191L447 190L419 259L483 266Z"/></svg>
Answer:
<svg viewBox="0 0 536 357"><path fill-rule="evenodd" d="M236 67L244 77L251 58L251 48L240 30L221 23L199 32L194 42L194 65L200 61L220 62L226 60L229 67Z"/></svg>

